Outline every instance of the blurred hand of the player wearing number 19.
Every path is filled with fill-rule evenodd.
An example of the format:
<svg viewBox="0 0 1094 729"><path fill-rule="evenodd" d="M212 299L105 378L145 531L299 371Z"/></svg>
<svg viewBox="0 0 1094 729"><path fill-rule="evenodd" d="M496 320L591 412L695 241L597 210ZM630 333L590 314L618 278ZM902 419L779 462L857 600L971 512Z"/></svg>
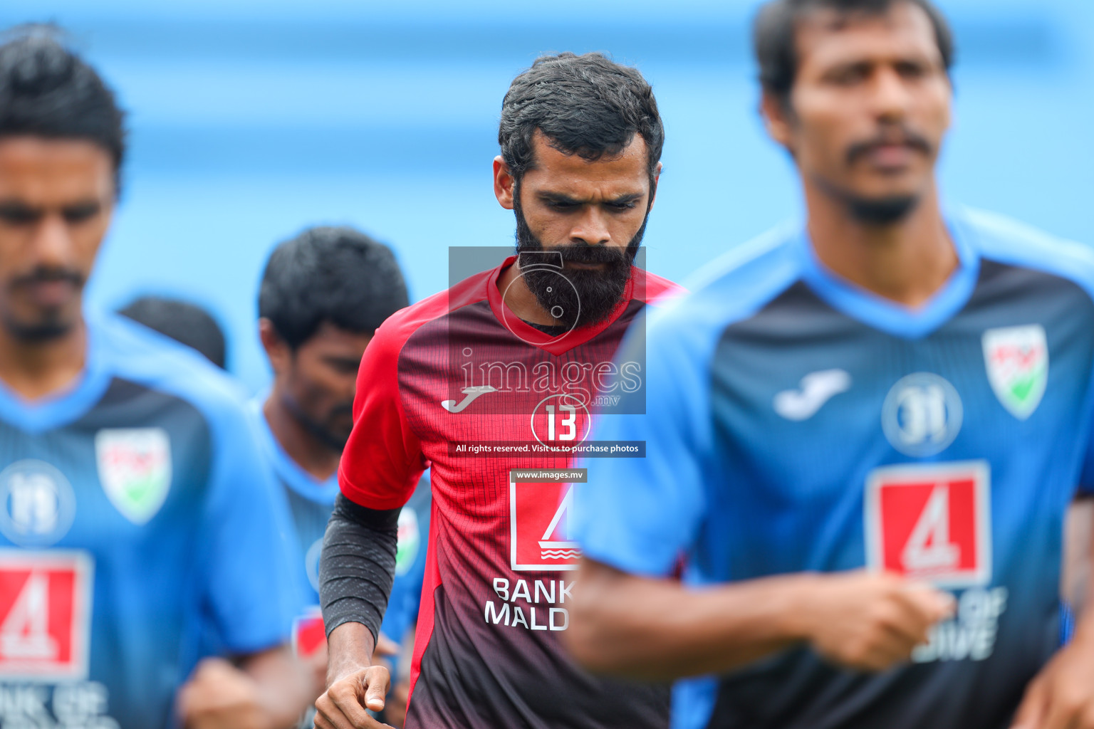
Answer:
<svg viewBox="0 0 1094 729"><path fill-rule="evenodd" d="M221 658L198 663L178 690L178 713L187 729L274 729L263 705L255 680Z"/></svg>

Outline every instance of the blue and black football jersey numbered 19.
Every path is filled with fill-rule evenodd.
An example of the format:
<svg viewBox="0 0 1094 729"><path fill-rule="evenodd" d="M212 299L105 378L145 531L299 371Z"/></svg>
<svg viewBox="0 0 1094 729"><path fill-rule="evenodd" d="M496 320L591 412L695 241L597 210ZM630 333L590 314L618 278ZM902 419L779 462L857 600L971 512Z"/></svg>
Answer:
<svg viewBox="0 0 1094 729"><path fill-rule="evenodd" d="M88 328L68 390L0 385L0 727L171 726L206 647L283 644L300 610L235 386L127 319Z"/></svg>

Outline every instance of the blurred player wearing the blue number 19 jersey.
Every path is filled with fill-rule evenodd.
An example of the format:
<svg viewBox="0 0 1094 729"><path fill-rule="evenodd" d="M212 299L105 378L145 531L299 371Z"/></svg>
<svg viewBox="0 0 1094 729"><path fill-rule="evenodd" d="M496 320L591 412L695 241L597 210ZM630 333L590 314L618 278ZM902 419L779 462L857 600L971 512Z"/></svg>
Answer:
<svg viewBox="0 0 1094 729"><path fill-rule="evenodd" d="M82 306L124 151L49 31L0 46L0 725L290 727L289 517L244 405ZM198 662L210 635L231 662Z"/></svg>

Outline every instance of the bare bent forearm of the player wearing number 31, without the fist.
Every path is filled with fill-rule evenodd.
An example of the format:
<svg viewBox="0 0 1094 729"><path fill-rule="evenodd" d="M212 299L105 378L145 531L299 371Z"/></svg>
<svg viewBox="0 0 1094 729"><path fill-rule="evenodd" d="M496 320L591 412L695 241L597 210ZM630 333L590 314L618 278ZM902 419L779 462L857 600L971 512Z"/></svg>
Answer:
<svg viewBox="0 0 1094 729"><path fill-rule="evenodd" d="M795 608L808 575L695 590L589 566L568 638L593 670L643 679L723 672L805 637Z"/></svg>

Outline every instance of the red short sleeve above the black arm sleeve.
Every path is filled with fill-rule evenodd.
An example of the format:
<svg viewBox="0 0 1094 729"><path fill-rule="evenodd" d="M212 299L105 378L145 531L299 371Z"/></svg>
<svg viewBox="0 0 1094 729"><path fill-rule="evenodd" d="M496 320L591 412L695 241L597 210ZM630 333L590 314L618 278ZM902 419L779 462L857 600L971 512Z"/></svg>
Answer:
<svg viewBox="0 0 1094 729"><path fill-rule="evenodd" d="M342 451L338 484L347 498L366 508L401 507L426 470L399 392L398 360L406 329L398 315L384 322L365 348L358 371L353 431Z"/></svg>

